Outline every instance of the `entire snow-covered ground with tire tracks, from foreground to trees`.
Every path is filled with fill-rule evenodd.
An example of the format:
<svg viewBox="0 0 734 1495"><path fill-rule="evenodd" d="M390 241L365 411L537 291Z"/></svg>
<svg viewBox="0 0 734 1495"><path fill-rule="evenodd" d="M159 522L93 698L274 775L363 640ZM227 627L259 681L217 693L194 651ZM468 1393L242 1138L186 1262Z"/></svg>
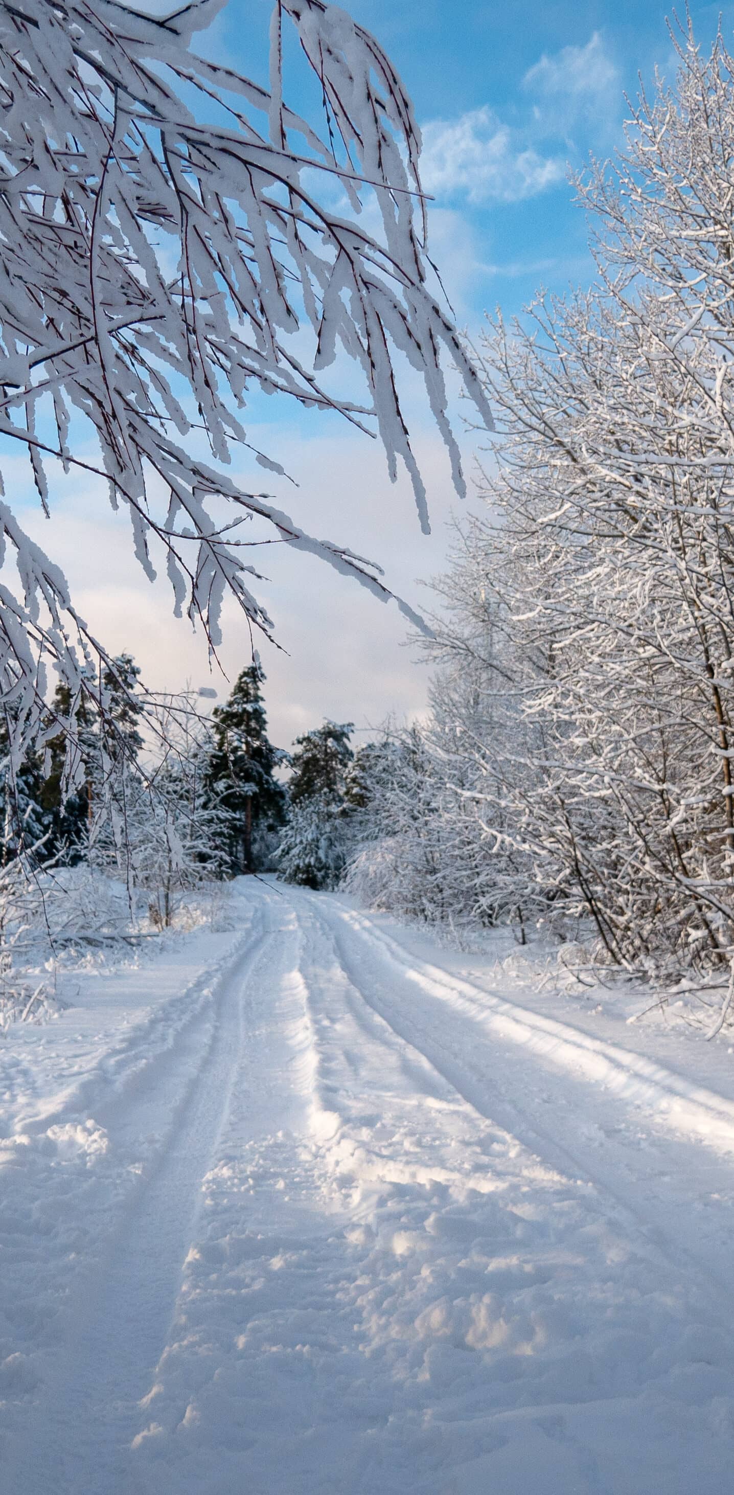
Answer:
<svg viewBox="0 0 734 1495"><path fill-rule="evenodd" d="M12 1495L725 1495L734 1060L253 879L0 1045Z"/></svg>

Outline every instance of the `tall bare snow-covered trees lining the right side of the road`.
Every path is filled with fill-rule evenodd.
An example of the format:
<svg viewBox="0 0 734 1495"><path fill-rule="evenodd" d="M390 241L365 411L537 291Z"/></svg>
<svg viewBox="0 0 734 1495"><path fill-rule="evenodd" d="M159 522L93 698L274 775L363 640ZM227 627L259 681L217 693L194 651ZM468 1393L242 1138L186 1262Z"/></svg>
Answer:
<svg viewBox="0 0 734 1495"><path fill-rule="evenodd" d="M463 876L477 913L582 918L658 975L734 949L734 63L677 45L582 184L598 286L483 342L489 507L441 586L420 734L448 904ZM420 861L383 822L399 897Z"/></svg>

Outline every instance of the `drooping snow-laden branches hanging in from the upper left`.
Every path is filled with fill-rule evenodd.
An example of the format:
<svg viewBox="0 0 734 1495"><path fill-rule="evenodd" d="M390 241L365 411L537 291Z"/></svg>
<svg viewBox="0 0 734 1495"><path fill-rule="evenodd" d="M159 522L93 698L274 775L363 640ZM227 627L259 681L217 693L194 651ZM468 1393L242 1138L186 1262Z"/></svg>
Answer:
<svg viewBox="0 0 734 1495"><path fill-rule="evenodd" d="M108 0L0 3L0 451L25 449L46 510L55 463L106 478L141 565L154 576L155 537L176 613L200 619L212 646L227 591L269 629L242 559L245 517L387 595L375 568L223 471L233 444L248 447L253 386L377 435L390 475L398 459L408 468L423 523L393 350L423 378L459 487L442 353L486 414L426 287L419 135L389 60L344 10L278 0L268 91L190 51L218 9L199 0L152 18ZM317 75L321 135L283 99L286 28ZM380 238L359 221L365 191ZM338 357L357 366L360 401L329 392ZM1 689L33 731L39 659L78 692L99 646L6 505L0 537L19 573L18 595L0 585Z"/></svg>

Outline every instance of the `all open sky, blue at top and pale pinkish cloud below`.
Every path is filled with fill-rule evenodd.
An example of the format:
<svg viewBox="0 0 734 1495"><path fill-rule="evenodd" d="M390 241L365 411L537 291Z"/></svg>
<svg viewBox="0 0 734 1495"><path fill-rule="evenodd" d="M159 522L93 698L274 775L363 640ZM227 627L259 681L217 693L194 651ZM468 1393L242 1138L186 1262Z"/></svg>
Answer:
<svg viewBox="0 0 734 1495"><path fill-rule="evenodd" d="M164 9L160 3L158 12ZM425 179L434 193L432 251L457 309L475 332L486 308L519 311L538 286L564 290L589 283L586 224L573 205L567 169L589 151L608 155L622 142L625 91L658 64L673 70L665 6L631 0L623 9L592 0L353 0L353 15L389 51L425 132ZM230 0L196 43L265 81L271 0ZM715 4L691 6L709 49ZM734 3L722 7L724 34L734 39ZM303 108L293 70L289 102ZM253 407L257 420L260 408ZM447 520L459 508L447 465L428 417L419 416L416 447L428 478L434 534L420 535L410 487L392 489L369 443L333 422L306 425L283 410L257 429L259 444L280 456L299 489L277 492L283 507L314 534L378 559L393 588L419 607L419 579L445 565ZM359 444L359 443L363 444ZM471 465L471 443L466 444ZM469 507L477 499L469 496ZM63 493L57 517L37 537L66 567L78 605L114 649L130 649L151 686L208 683L203 640L173 622L163 583L151 588L132 561L124 522L99 493ZM99 561L90 567L90 555ZM405 647L405 623L354 583L318 562L269 552L271 580L262 595L287 652L263 650L275 740L292 737L324 715L360 728L387 713L420 713L426 670ZM272 564L271 564L272 562ZM226 617L221 658L233 677L247 661L248 638L233 610ZM214 680L220 695L227 685Z"/></svg>

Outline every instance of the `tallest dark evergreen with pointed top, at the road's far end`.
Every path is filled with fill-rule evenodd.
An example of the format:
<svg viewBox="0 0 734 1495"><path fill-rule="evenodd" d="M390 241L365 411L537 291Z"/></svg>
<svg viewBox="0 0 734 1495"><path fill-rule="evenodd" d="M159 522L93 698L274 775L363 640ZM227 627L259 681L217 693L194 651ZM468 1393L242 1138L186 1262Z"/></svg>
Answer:
<svg viewBox="0 0 734 1495"><path fill-rule="evenodd" d="M274 770L287 761L287 753L269 742L263 682L262 667L247 665L226 706L212 712L214 752L206 782L230 815L227 857L232 873L256 872L263 833L275 831L286 819L286 791Z"/></svg>

